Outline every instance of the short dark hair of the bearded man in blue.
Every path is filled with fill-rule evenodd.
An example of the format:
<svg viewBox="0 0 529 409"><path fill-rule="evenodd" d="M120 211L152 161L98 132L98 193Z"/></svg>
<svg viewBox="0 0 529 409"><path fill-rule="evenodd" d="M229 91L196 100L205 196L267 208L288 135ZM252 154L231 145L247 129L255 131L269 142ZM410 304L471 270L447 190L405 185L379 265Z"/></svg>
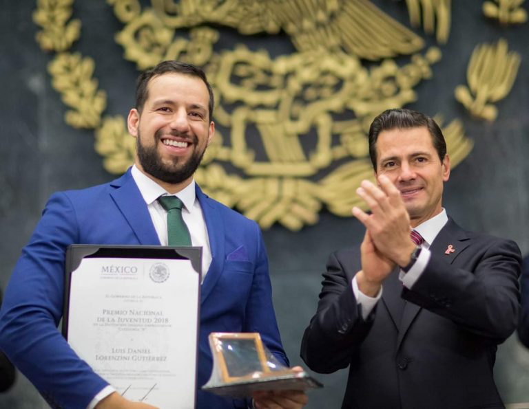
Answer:
<svg viewBox="0 0 529 409"><path fill-rule="evenodd" d="M209 82L207 82L206 74L200 67L197 67L196 65L182 63L181 61L176 60L162 61L161 63L158 63L156 67L147 69L146 71L143 71L143 73L140 74L140 76L138 77L138 81L136 82L136 109L139 112L141 112L143 109L143 104L145 104L145 101L149 96L147 90L147 85L149 85L149 81L156 76L167 74L168 72L193 76L203 80L207 88L207 93L209 93L209 120L213 120L213 89L211 88Z"/></svg>

